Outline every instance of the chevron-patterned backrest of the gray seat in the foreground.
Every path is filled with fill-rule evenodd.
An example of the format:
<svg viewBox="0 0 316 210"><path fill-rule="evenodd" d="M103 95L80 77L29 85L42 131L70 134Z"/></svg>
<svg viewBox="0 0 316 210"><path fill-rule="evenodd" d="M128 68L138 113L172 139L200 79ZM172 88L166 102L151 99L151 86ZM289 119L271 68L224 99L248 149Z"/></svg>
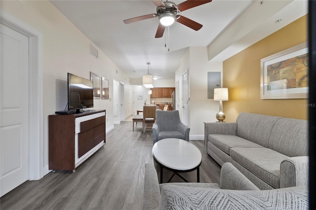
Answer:
<svg viewBox="0 0 316 210"><path fill-rule="evenodd" d="M224 190L162 187L160 209L163 210L282 210L308 209L307 186L274 190Z"/></svg>

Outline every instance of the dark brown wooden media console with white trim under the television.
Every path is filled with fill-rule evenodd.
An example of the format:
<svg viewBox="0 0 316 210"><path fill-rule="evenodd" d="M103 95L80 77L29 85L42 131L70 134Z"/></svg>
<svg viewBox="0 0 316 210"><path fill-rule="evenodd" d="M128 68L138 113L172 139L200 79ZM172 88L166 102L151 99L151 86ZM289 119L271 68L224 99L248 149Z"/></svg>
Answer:
<svg viewBox="0 0 316 210"><path fill-rule="evenodd" d="M49 170L72 170L106 142L105 110L48 116Z"/></svg>

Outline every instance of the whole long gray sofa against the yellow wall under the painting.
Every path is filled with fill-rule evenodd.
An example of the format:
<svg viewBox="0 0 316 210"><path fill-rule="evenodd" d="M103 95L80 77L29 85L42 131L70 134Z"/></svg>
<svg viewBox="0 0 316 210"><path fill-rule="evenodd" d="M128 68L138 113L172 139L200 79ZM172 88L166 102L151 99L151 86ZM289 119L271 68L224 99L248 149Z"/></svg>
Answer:
<svg viewBox="0 0 316 210"><path fill-rule="evenodd" d="M206 151L259 189L307 185L307 128L307 120L240 113L233 123L205 123Z"/></svg>

